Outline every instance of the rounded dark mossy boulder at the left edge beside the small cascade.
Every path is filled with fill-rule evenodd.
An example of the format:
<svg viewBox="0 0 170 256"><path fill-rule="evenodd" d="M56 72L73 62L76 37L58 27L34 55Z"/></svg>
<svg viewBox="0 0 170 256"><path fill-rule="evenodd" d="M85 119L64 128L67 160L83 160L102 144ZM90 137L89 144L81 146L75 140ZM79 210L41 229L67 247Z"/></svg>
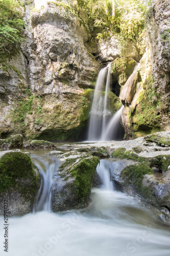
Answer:
<svg viewBox="0 0 170 256"><path fill-rule="evenodd" d="M28 214L40 187L40 174L31 157L20 151L0 153L0 198L9 202L9 216ZM3 215L3 205L0 214Z"/></svg>

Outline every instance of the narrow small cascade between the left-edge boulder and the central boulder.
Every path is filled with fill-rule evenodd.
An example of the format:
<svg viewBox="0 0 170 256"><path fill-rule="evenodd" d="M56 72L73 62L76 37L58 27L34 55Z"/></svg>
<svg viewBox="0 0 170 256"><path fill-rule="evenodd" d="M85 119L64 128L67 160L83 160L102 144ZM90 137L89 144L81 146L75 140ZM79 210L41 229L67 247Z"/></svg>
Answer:
<svg viewBox="0 0 170 256"><path fill-rule="evenodd" d="M53 185L53 173L55 164L48 158L32 157L41 175L41 187L39 189L33 212L51 210L51 189Z"/></svg>

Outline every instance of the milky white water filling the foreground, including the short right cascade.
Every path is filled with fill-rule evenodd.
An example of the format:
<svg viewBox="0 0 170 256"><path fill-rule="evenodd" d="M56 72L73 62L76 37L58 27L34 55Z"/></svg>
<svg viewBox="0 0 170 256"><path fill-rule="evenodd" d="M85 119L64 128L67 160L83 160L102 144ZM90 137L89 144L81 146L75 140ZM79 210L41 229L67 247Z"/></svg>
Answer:
<svg viewBox="0 0 170 256"><path fill-rule="evenodd" d="M51 161L44 163L44 157L33 158L39 168L47 168L51 173ZM3 250L1 217L1 255L169 256L169 226L159 220L154 208L114 190L110 181L114 165L109 163L101 160L97 167L103 185L91 190L92 202L86 209L56 214L42 210L9 218L8 253ZM45 177L51 180L51 175Z"/></svg>

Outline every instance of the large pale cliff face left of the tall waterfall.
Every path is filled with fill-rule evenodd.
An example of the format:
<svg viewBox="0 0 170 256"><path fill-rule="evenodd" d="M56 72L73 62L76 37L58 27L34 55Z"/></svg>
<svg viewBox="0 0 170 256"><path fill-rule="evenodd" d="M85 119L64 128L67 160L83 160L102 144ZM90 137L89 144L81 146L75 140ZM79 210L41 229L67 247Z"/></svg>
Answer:
<svg viewBox="0 0 170 256"><path fill-rule="evenodd" d="M86 50L87 33L69 5L32 8L25 6L22 52L1 68L0 136L78 139L90 110L84 89L94 88L100 64Z"/></svg>

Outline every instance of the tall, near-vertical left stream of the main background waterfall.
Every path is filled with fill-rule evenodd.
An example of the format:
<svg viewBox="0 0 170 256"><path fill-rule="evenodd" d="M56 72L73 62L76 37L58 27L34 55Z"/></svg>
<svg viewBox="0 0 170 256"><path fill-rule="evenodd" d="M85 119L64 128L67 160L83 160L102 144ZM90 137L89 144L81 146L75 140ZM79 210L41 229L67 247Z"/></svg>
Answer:
<svg viewBox="0 0 170 256"><path fill-rule="evenodd" d="M103 68L98 75L96 86L94 90L94 96L90 111L90 121L88 129L88 141L101 141L111 140L113 137L113 129L110 127L111 112L108 110L107 100L108 92L110 91L111 84L111 65L108 63L107 67ZM105 91L105 93L104 93ZM112 123L119 123L121 111L117 118L112 120ZM108 128L108 125L110 128ZM107 136L110 133L110 136Z"/></svg>

